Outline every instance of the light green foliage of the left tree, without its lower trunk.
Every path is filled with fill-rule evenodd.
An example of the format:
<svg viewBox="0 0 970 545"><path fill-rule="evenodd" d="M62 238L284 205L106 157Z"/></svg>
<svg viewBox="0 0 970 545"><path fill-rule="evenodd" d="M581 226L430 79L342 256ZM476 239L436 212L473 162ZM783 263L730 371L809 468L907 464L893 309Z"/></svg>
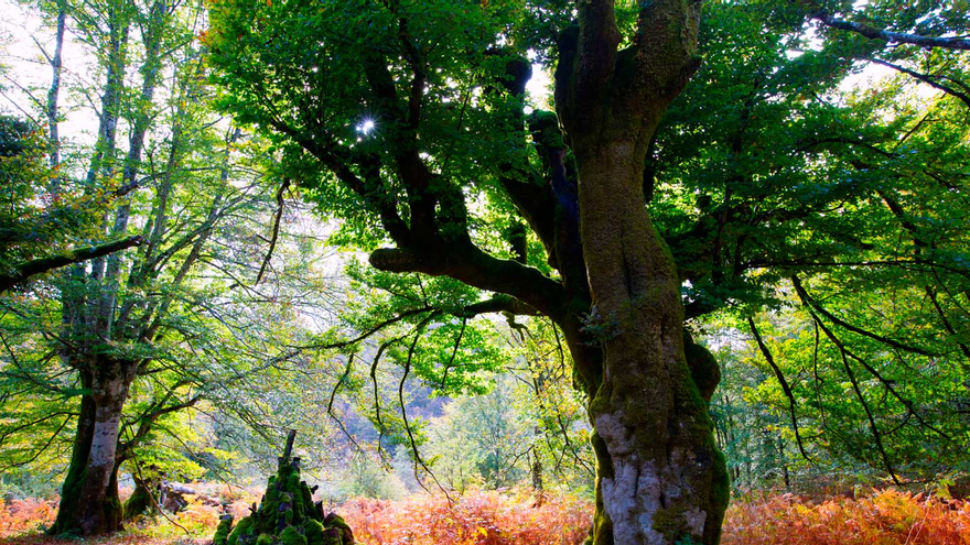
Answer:
<svg viewBox="0 0 970 545"><path fill-rule="evenodd" d="M110 363L121 361L137 371L118 415L120 472L173 480L226 476L262 454L274 439L267 428L289 424L267 407L295 396L290 378L298 366L290 367L293 358L281 344L302 334L290 326L306 307L321 307L320 297L305 293L321 285L325 252L284 222L262 284L252 288L267 253L261 237L271 236L277 207L271 161L266 142L228 128L212 110L193 41L197 4L180 4L164 17L131 2L110 13L100 4L62 7L73 31L86 36L76 44L78 54L96 66L84 81L65 67L62 85L78 87L76 94L62 89L62 100L100 96L101 119L117 123L118 133L110 140L101 132L84 146L64 124L61 162L50 167L50 128L44 134L2 118L10 153L0 157L0 268L72 244L131 235L144 242L0 297L0 472L63 478L78 413L95 393L90 378L108 375ZM110 25L95 24L99 18ZM126 25L137 30L119 53L107 28ZM160 40L154 54L151 36ZM116 69L133 75L109 84ZM146 88L154 94L144 95ZM69 108L86 106L62 105L62 111ZM284 209L293 214L290 203ZM269 371L268 361L274 362ZM314 419L299 415L304 425ZM76 490L80 476L64 491Z"/></svg>

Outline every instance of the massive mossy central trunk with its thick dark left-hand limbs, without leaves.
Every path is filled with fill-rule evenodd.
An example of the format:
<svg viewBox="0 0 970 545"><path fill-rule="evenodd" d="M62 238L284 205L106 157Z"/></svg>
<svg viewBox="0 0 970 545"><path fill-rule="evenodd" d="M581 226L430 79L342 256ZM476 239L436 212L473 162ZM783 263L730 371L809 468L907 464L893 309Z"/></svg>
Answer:
<svg viewBox="0 0 970 545"><path fill-rule="evenodd" d="M280 120L252 107L250 98L240 99L237 108L292 137L355 195L354 206L363 203L379 218L394 247L370 253L376 269L446 275L495 294L461 312L448 310L462 319L486 312L545 315L561 328L576 382L591 400L599 461L595 545L714 545L728 494L705 402L716 373L691 366L712 362L697 345L686 350L680 281L647 214L643 187L657 124L699 66L700 0L636 2L635 34L624 48L614 0L569 4L578 25L560 36L556 113L534 112L526 119L520 98L531 68L511 52L505 77L488 90L504 88L518 97L509 100L510 108L495 109L504 118L496 122L528 123L531 140L522 135L521 143L540 152L541 173L514 157L496 172L505 197L541 241L557 275L528 266L526 246L515 237L509 237L515 259L476 246L465 186L429 163L421 134L427 119L440 118L421 113L434 100L424 90L435 67L416 46L410 12L401 2L384 3L398 22L398 51L358 44L364 52L360 84L368 89L363 98L373 117L382 120L376 138L387 153L352 150L309 112ZM237 30L235 21L224 24ZM240 58L255 73L262 63L258 55L240 57L233 51L228 56L216 52L214 59L233 75L224 80L242 90L239 96L292 100L252 86L254 72L235 72ZM395 57L405 63L388 61ZM397 70L411 72L411 77ZM297 69L290 74L303 77ZM325 91L313 85L308 81L306 97L316 99L312 92ZM302 111L300 103L291 105L292 111ZM387 188L384 173L394 174L394 189Z"/></svg>

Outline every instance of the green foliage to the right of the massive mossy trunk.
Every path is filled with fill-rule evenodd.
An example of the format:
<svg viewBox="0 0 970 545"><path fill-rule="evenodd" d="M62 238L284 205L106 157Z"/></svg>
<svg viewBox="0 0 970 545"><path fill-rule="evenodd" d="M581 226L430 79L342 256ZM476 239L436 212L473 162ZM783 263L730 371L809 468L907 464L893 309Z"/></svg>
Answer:
<svg viewBox="0 0 970 545"><path fill-rule="evenodd" d="M843 81L870 59L959 81L967 59L833 29L811 42L790 6L743 6L708 7L707 63L650 159L688 314L721 324L711 410L735 483L962 467L970 210L956 165L970 105L898 70ZM941 24L928 6L890 6L858 9L897 30Z"/></svg>

